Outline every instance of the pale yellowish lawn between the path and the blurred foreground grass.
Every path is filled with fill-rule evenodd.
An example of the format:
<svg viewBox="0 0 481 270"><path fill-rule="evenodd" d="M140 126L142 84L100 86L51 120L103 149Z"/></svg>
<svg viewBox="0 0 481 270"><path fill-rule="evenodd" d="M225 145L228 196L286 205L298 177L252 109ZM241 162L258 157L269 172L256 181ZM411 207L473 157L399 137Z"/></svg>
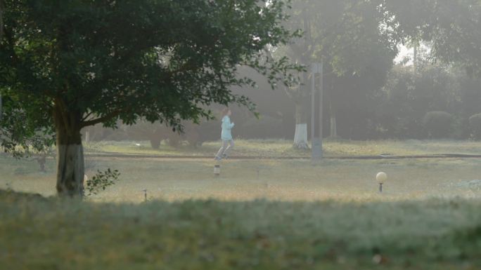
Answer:
<svg viewBox="0 0 481 270"><path fill-rule="evenodd" d="M120 170L120 182L98 196L103 202L140 202L214 198L250 201L403 201L425 198L478 198L481 159L402 160L226 160L220 177L213 175L213 160L155 158L88 158L89 177L96 170ZM34 161L0 158L0 187L55 194L54 161L39 173ZM389 175L385 192L378 193L376 173ZM478 187L479 185L479 187Z"/></svg>

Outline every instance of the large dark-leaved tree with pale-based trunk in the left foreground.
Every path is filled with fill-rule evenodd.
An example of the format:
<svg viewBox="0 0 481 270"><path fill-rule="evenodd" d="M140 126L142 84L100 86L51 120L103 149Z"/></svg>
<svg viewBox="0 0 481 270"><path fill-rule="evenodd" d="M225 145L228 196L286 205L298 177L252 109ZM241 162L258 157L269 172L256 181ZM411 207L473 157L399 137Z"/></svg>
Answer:
<svg viewBox="0 0 481 270"><path fill-rule="evenodd" d="M267 3L267 4L266 4ZM250 101L230 86L248 65L274 84L296 67L263 57L291 34L282 0L5 0L0 91L6 109L56 135L60 196L83 194L80 131L117 121L210 119L208 104ZM290 81L287 79L286 81ZM23 133L27 134L27 133Z"/></svg>

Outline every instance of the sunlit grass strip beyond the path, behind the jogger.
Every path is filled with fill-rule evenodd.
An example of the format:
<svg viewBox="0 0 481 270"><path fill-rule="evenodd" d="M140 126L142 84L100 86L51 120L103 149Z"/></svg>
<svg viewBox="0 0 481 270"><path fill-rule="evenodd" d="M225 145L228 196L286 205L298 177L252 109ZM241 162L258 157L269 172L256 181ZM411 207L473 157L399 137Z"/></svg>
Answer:
<svg viewBox="0 0 481 270"><path fill-rule="evenodd" d="M140 144L140 146L136 145ZM152 149L149 142L90 142L85 145L87 154L148 154L167 156L214 156L220 142L205 142L193 148L186 144L169 147L162 143L160 149ZM397 156L421 154L481 154L481 142L468 141L337 141L326 140L323 144L325 156ZM309 157L310 151L296 150L288 140L236 140L233 156Z"/></svg>

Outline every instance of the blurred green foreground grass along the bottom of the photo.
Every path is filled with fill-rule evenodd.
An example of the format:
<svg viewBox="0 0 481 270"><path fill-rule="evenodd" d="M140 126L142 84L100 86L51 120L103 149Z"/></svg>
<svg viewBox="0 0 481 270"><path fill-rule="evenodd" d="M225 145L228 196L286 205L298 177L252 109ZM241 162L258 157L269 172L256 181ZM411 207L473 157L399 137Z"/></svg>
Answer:
<svg viewBox="0 0 481 270"><path fill-rule="evenodd" d="M481 201L79 203L0 190L0 268L481 269Z"/></svg>

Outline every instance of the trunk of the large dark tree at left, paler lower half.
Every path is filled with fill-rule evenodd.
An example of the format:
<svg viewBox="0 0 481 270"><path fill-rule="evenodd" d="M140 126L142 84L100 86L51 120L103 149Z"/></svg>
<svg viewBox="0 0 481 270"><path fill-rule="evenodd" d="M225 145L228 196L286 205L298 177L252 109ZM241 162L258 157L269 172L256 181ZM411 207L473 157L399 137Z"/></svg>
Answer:
<svg viewBox="0 0 481 270"><path fill-rule="evenodd" d="M84 195L84 149L79 117L56 107L57 193L63 197Z"/></svg>

